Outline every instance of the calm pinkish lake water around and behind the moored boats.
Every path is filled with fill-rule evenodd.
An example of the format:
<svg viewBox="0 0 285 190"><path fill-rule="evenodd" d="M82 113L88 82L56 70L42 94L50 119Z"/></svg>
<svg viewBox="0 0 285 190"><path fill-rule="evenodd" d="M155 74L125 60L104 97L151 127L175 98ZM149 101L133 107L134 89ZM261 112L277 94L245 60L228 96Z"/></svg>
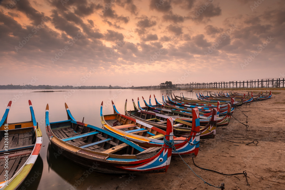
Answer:
<svg viewBox="0 0 285 190"><path fill-rule="evenodd" d="M162 93L174 92L180 95L183 92L185 97L195 98L195 92L187 91L166 91L166 90L130 90L130 89L99 89L99 90L63 90L62 92L33 92L39 90L0 90L0 119L2 118L7 104L13 101L9 111L7 122L23 122L30 120L30 109L28 100L32 101L34 113L39 127L42 130L42 148L40 156L36 161L30 175L26 178L21 189L87 189L88 185L93 188L106 186L114 177L112 174L92 172L88 177L84 175L86 168L81 167L70 160L59 156L49 146L49 140L45 130L45 108L49 105L50 122L66 120L67 114L64 103L66 102L73 117L84 123L102 127L100 122L100 105L104 102L104 114L113 113L111 100L114 101L117 110L124 113L125 100L128 100L127 109L133 110L132 99L137 103L140 98L140 105L143 106L142 96L147 100L152 96L151 103L155 101L153 94L158 101L162 101ZM78 181L84 177L84 182ZM80 184L79 184L80 183ZM79 185L78 185L79 184Z"/></svg>

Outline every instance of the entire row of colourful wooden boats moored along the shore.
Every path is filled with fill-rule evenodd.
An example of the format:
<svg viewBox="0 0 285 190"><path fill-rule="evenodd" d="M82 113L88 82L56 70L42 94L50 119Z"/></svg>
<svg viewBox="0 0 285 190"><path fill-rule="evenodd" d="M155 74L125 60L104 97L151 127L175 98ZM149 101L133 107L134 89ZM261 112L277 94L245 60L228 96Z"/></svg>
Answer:
<svg viewBox="0 0 285 190"><path fill-rule="evenodd" d="M200 138L214 138L216 127L229 124L237 106L271 98L272 93L245 95L235 92L197 94L198 99L162 95L162 102L151 96L144 106L134 100L134 110L123 114L113 101L113 114L103 114L102 128L76 120L65 104L67 120L50 122L46 106L46 134L55 150L85 167L96 164L104 173L163 173L171 156L196 157ZM31 101L32 120L7 123L9 102L0 122L0 189L18 188L34 165L42 144ZM9 171L5 170L9 163ZM11 164L12 163L12 164ZM93 167L94 168L94 167ZM5 172L7 175L5 175ZM7 176L7 177L6 177ZM2 182L3 181L3 182Z"/></svg>

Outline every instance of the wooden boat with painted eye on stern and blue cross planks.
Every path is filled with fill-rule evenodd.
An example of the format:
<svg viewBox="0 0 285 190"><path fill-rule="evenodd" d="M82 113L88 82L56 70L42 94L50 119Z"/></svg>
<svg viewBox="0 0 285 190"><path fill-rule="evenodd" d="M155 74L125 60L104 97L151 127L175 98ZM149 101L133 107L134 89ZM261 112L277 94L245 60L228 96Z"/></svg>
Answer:
<svg viewBox="0 0 285 190"><path fill-rule="evenodd" d="M83 122L71 115L65 104L68 120L49 122L46 106L46 134L52 147L84 167L104 173L164 173L170 164L172 147L142 148L137 144ZM168 119L165 139L172 141L173 121Z"/></svg>

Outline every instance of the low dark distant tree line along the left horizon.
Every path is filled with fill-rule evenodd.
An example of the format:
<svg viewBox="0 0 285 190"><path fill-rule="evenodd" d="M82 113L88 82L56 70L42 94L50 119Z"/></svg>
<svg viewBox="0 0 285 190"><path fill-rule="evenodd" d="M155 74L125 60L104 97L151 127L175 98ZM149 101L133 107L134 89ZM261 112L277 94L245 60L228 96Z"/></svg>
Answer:
<svg viewBox="0 0 285 190"><path fill-rule="evenodd" d="M110 85L111 86L111 85ZM0 89L108 89L110 86L51 86L51 85L0 85ZM112 88L122 88L120 86L113 86Z"/></svg>

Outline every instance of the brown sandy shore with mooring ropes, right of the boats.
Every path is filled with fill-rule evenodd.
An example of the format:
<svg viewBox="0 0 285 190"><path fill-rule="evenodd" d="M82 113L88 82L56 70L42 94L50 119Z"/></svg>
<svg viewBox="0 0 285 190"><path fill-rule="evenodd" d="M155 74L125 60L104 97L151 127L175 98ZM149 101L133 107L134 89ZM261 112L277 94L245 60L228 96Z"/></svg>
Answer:
<svg viewBox="0 0 285 190"><path fill-rule="evenodd" d="M244 113L248 116L248 130L232 118L228 126L217 128L216 138L201 140L194 161L200 167L227 174L246 171L249 186L243 175L205 171L195 167L192 158L185 158L185 162L208 183L225 183L225 189L285 189L285 91L274 91L272 99L255 101L250 107L243 105L239 109L247 111ZM237 109L233 116L245 122L241 111ZM219 137L235 142L258 140L259 143L257 146L236 144ZM106 183L99 187L92 185L92 178L84 181L83 189L217 189L204 184L180 158L172 158L167 173L163 174L104 175L102 180Z"/></svg>

